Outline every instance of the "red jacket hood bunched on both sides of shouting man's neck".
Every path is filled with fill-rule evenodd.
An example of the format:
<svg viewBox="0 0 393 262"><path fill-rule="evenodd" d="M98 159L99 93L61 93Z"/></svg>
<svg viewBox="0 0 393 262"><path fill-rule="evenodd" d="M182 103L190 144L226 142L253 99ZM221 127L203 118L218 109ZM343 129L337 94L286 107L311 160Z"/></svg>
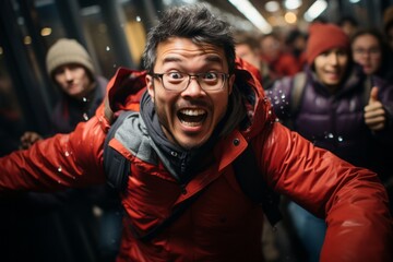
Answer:
<svg viewBox="0 0 393 262"><path fill-rule="evenodd" d="M272 105L266 98L258 78L250 73L251 66L236 60L235 86L229 98L225 121L219 124L219 136L239 129L245 138L252 139L269 122L276 121ZM109 106L115 115L122 110L140 110L140 102L146 91L145 71L118 69L108 84Z"/></svg>

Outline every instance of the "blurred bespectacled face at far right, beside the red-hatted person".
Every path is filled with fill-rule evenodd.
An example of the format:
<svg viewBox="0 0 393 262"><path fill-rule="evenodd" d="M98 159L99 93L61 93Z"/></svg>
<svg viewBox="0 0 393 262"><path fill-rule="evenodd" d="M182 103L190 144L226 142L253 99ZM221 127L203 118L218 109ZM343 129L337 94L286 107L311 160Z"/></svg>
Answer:
<svg viewBox="0 0 393 262"><path fill-rule="evenodd" d="M372 35L360 35L352 44L353 57L366 74L373 74L381 67L382 53L378 39Z"/></svg>

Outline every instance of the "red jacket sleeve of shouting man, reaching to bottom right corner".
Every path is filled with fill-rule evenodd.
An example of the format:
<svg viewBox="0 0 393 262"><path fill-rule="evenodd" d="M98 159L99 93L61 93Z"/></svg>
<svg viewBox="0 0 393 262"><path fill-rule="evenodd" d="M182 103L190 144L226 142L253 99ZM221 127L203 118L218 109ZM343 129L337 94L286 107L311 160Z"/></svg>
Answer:
<svg viewBox="0 0 393 262"><path fill-rule="evenodd" d="M393 261L392 217L374 172L314 147L279 123L264 139L261 160L276 191L324 217L321 261Z"/></svg>

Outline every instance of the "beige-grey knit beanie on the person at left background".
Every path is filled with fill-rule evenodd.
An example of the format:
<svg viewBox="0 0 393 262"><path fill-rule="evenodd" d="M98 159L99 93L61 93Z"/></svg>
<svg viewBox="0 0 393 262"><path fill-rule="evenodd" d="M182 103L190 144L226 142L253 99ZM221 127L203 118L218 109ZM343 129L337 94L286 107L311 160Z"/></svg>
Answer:
<svg viewBox="0 0 393 262"><path fill-rule="evenodd" d="M94 67L91 56L86 49L75 39L61 38L57 40L48 50L46 64L50 78L53 71L67 63L78 63L86 68L91 76L94 76Z"/></svg>

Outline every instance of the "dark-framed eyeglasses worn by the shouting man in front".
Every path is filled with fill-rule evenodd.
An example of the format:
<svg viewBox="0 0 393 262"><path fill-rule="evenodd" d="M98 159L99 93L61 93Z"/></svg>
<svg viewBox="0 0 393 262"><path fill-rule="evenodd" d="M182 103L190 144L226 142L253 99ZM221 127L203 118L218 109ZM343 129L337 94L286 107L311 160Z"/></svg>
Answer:
<svg viewBox="0 0 393 262"><path fill-rule="evenodd" d="M168 73L152 73L151 75L160 79L165 90L174 92L187 90L191 83L191 78L195 78L198 84L206 92L219 91L229 78L229 74L219 72L188 74L174 71Z"/></svg>

